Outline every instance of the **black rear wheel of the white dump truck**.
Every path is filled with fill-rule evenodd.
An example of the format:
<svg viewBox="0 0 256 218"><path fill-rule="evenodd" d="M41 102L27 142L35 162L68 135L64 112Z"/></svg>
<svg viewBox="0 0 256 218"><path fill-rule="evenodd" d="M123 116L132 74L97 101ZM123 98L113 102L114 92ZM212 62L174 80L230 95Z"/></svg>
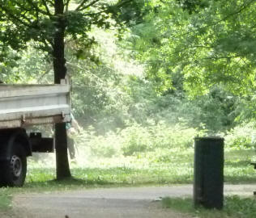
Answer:
<svg viewBox="0 0 256 218"><path fill-rule="evenodd" d="M27 157L22 145L11 146L9 161L2 162L2 184L7 187L22 187L27 174Z"/></svg>

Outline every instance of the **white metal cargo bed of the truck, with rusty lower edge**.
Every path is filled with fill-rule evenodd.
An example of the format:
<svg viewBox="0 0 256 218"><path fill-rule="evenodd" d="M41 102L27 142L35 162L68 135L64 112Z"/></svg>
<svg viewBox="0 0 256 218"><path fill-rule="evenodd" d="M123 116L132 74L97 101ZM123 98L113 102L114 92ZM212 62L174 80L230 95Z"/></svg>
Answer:
<svg viewBox="0 0 256 218"><path fill-rule="evenodd" d="M0 129L70 122L70 85L0 85Z"/></svg>

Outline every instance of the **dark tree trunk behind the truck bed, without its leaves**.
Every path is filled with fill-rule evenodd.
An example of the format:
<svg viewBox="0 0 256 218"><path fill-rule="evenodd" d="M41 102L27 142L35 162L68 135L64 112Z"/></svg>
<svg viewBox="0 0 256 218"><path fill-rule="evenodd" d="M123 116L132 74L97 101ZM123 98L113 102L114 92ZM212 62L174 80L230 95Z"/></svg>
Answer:
<svg viewBox="0 0 256 218"><path fill-rule="evenodd" d="M63 0L55 0L55 15L58 18L53 41L54 83L60 83L66 76L66 60L64 56L64 37L66 21L63 19ZM56 174L57 179L70 178L70 166L67 156L66 123L55 124Z"/></svg>

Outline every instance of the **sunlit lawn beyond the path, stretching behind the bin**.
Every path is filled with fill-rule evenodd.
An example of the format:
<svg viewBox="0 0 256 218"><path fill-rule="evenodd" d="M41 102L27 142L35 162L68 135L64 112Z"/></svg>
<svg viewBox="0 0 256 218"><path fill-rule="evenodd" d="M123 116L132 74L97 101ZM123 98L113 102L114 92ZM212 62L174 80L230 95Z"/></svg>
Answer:
<svg viewBox="0 0 256 218"><path fill-rule="evenodd" d="M250 165L255 152L227 151L224 157L224 180L228 183L256 182L256 170ZM52 164L53 165L53 164ZM29 166L25 187L47 187L55 178L55 170L45 164ZM194 150L168 150L144 153L135 157L95 159L71 165L71 173L83 186L141 186L193 182Z"/></svg>

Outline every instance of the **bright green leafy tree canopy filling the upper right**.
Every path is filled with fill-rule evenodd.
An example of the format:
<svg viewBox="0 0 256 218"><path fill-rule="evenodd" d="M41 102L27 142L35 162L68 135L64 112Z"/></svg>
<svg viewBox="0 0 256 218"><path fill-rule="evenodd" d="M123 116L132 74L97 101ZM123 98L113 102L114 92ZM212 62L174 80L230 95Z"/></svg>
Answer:
<svg viewBox="0 0 256 218"><path fill-rule="evenodd" d="M255 91L255 1L151 2L155 10L134 28L132 39L160 90L179 75L193 95L215 84L235 94Z"/></svg>

